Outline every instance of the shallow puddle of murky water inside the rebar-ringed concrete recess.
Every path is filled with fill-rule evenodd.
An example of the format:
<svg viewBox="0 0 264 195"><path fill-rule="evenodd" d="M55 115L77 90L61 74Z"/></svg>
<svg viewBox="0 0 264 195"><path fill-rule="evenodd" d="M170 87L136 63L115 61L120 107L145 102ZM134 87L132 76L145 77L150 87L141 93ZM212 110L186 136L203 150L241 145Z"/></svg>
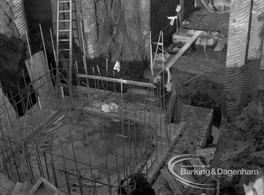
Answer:
<svg viewBox="0 0 264 195"><path fill-rule="evenodd" d="M104 120L105 143L103 139L102 125L98 124L96 126L93 126L90 124L89 126L87 126L87 128L79 130L78 134L74 135L73 147L74 147L76 160L89 164L89 153L88 153L86 134L85 134L85 131L87 130L91 164L96 167L107 169L106 157L105 157L106 155L107 163L109 164L109 169L111 171L117 172L114 135L115 134L122 135L122 125L117 124L117 123L112 123L110 120L109 121L107 120ZM132 144L132 142L136 143L137 153L139 156L139 151L140 151L139 144L142 143L142 148L143 149L145 148L145 145L144 145L145 129L143 126L139 126L139 125L136 126L135 129L136 130L134 131L134 127L130 126L130 144ZM140 142L140 131L142 135L141 142ZM149 132L149 129L146 129L146 131ZM124 125L124 135L129 137L129 126L128 125ZM147 135L147 140L149 139L150 139L150 136ZM124 154L123 154L123 148L122 148L122 145L123 145L122 140L124 140ZM69 158L73 158L72 144L68 142L67 145L65 145L65 147L68 150L67 156ZM118 156L118 161L120 162L120 166L123 166L123 157L125 157L125 164L129 163L130 162L129 138L121 138L121 137L116 136L116 147L117 147L117 156ZM131 147L130 149L132 150L132 146L130 147ZM74 161L67 160L66 166L68 170L75 169ZM85 168L87 168L86 165L81 165L81 164L78 165L78 169L85 169Z"/></svg>

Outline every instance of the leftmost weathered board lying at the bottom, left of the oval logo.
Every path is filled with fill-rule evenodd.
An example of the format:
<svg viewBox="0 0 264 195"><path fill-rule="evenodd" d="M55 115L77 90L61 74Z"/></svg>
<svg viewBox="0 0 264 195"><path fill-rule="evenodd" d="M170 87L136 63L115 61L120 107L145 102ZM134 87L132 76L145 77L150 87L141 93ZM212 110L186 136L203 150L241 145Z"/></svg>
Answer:
<svg viewBox="0 0 264 195"><path fill-rule="evenodd" d="M164 177L164 179L167 181L169 187L171 188L174 195L182 195L183 194L183 186L178 185L176 179L173 177L173 175L170 173L167 166L164 166L163 169L161 169L161 173Z"/></svg>

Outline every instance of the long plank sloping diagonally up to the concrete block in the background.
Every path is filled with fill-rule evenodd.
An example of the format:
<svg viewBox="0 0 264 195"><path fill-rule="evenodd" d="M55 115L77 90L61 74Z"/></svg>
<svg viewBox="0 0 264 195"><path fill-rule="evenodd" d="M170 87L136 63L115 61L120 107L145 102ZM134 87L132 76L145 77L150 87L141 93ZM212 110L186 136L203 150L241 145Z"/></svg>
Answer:
<svg viewBox="0 0 264 195"><path fill-rule="evenodd" d="M176 61L183 55L183 53L192 45L192 43L199 37L202 31L196 31L195 34L185 43L185 45L178 51L175 56L172 57L172 59L164 66L165 69L170 69ZM161 79L161 76L159 74L162 73L162 70L159 71L158 75L154 78L154 83L157 83L158 79Z"/></svg>

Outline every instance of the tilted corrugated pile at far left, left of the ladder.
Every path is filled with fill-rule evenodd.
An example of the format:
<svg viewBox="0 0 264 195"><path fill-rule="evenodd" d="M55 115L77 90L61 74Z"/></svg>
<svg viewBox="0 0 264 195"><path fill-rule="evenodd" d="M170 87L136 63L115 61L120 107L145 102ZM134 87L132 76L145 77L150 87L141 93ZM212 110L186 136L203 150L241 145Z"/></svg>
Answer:
<svg viewBox="0 0 264 195"><path fill-rule="evenodd" d="M23 0L7 0L7 3L10 5L13 16L12 20L16 25L16 28L19 33L19 38L23 41L26 48L26 55L29 57L29 47L27 44L27 35L29 35L29 29L27 27L27 19Z"/></svg>

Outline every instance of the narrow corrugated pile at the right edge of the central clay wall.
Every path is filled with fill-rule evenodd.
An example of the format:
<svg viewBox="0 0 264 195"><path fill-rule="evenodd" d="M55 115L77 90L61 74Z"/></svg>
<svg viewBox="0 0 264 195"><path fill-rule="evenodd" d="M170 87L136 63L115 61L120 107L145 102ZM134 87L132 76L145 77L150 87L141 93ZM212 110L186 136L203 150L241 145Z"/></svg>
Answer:
<svg viewBox="0 0 264 195"><path fill-rule="evenodd" d="M145 55L147 61L150 61L150 0L139 0L139 19L140 32L144 41ZM145 59L144 59L145 60Z"/></svg>

